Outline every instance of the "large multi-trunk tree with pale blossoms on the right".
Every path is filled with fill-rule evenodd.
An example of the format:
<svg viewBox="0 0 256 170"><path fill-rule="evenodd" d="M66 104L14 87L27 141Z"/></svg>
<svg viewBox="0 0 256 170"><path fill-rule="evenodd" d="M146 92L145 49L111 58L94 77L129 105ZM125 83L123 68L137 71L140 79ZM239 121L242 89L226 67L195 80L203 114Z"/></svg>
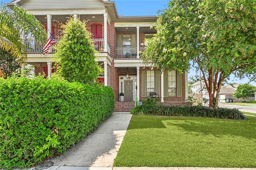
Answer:
<svg viewBox="0 0 256 170"><path fill-rule="evenodd" d="M180 72L198 65L210 107L217 108L220 87L231 74L256 78L255 6L255 0L172 0L142 60Z"/></svg>

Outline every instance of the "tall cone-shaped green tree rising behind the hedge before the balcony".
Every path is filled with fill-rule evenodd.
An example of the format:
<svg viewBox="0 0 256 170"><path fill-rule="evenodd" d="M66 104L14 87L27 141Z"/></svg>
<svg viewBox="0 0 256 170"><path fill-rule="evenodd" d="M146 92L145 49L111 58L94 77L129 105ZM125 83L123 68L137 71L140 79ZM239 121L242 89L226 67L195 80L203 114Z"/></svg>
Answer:
<svg viewBox="0 0 256 170"><path fill-rule="evenodd" d="M69 82L91 84L102 73L96 59L91 34L86 30L86 22L70 18L63 24L64 35L56 44L56 61L59 73Z"/></svg>

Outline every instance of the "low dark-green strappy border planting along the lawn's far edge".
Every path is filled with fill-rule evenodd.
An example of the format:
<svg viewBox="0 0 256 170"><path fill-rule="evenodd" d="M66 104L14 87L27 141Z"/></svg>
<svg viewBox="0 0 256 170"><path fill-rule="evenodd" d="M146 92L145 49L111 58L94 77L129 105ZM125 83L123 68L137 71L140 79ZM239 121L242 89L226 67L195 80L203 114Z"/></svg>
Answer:
<svg viewBox="0 0 256 170"><path fill-rule="evenodd" d="M134 115L160 115L160 116L189 116L211 117L218 119L245 120L246 117L238 109L218 108L211 109L204 106L164 106L154 103L154 99L145 99L141 106L131 110ZM151 102L149 102L151 100ZM148 104L150 103L150 104Z"/></svg>

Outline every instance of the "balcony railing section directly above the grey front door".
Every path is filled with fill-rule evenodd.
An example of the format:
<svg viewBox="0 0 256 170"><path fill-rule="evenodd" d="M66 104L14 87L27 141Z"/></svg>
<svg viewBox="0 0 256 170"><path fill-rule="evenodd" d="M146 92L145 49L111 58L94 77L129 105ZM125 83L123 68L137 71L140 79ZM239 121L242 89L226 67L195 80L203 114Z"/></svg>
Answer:
<svg viewBox="0 0 256 170"><path fill-rule="evenodd" d="M137 58L137 48L122 48L118 47L116 50L116 59L136 59Z"/></svg>

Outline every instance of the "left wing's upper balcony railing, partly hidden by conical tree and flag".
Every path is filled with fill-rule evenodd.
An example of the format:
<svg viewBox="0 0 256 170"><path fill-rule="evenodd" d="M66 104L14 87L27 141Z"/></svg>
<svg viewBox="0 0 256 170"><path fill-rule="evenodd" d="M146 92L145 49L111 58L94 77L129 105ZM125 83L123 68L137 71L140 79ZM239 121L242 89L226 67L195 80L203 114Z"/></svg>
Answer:
<svg viewBox="0 0 256 170"><path fill-rule="evenodd" d="M55 42L58 43L58 40L55 39ZM92 39L92 42L94 44L94 49L98 52L104 52L104 39ZM34 39L26 39L25 40L26 50L27 53L32 54L40 54L43 53L43 48L45 43L38 42ZM108 44L108 52L110 53L110 46ZM52 52L55 52L54 49L51 49Z"/></svg>

